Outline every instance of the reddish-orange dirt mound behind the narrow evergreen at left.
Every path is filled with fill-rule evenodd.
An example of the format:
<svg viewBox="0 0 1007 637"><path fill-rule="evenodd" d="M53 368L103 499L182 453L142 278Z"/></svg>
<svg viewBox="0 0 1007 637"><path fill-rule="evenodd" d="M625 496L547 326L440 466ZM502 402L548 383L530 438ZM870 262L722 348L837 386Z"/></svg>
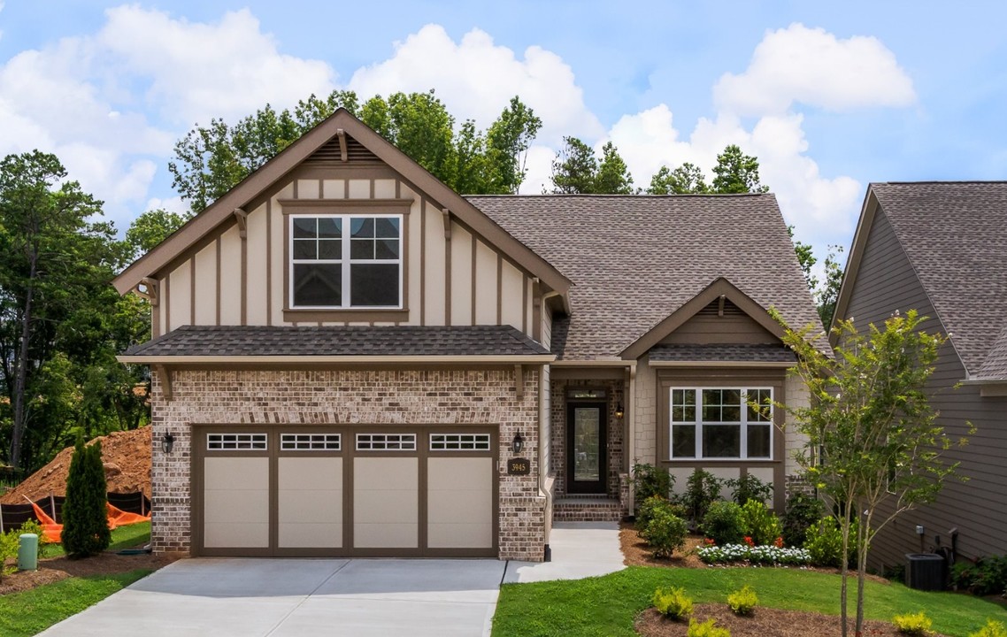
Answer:
<svg viewBox="0 0 1007 637"><path fill-rule="evenodd" d="M150 430L149 426L141 427L95 439L102 441L105 478L112 493L143 491L150 497ZM37 501L50 493L66 495L66 474L73 456L73 447L63 449L52 462L0 497L0 503L24 504L25 497Z"/></svg>

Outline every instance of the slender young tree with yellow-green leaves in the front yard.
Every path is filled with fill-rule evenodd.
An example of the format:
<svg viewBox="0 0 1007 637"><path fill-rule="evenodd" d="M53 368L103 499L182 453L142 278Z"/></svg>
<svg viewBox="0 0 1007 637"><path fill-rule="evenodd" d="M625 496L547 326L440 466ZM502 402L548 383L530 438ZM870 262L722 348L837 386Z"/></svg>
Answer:
<svg viewBox="0 0 1007 637"><path fill-rule="evenodd" d="M851 528L858 528L858 637L871 540L899 514L932 502L944 482L957 476L958 464L942 458L953 443L937 425L924 391L946 338L921 331L921 320L915 310L904 316L896 313L881 327L871 324L866 333L859 332L852 320L839 321L835 358L817 347L824 336L817 329L787 330L783 339L797 352L795 373L811 393L811 407L779 406L809 441L797 460L820 493L841 511L841 554L847 554ZM844 636L846 574L844 562Z"/></svg>

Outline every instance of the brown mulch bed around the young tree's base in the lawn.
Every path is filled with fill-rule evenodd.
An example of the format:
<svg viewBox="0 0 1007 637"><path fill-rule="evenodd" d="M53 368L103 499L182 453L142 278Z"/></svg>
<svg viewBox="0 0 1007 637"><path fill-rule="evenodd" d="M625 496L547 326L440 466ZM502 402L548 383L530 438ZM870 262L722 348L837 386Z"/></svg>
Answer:
<svg viewBox="0 0 1007 637"><path fill-rule="evenodd" d="M693 618L699 622L713 618L717 626L731 631L731 637L835 637L840 633L838 617L801 611L781 611L773 608L756 608L751 617L737 617L726 604L697 604ZM854 634L854 620L850 619L850 634ZM643 637L685 637L689 622L666 619L651 608L636 618L633 626ZM900 635L894 625L874 620L864 621L864 635L870 637L895 637ZM942 637L930 633L931 637Z"/></svg>

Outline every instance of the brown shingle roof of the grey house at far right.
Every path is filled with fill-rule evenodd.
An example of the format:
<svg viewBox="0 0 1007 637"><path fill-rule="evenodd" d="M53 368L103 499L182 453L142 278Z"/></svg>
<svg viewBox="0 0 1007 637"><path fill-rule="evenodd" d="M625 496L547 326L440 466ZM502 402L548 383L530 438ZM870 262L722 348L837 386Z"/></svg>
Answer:
<svg viewBox="0 0 1007 637"><path fill-rule="evenodd" d="M968 372L1007 377L1007 182L871 190Z"/></svg>

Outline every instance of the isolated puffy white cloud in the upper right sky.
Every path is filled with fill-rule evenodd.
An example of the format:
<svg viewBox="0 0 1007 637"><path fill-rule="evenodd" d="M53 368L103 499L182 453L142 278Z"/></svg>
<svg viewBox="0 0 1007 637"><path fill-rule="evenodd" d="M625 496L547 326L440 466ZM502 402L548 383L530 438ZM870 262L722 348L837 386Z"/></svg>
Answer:
<svg viewBox="0 0 1007 637"><path fill-rule="evenodd" d="M800 23L767 32L748 68L725 73L713 94L720 110L750 116L778 115L795 102L848 111L916 99L912 81L877 38L839 39Z"/></svg>

